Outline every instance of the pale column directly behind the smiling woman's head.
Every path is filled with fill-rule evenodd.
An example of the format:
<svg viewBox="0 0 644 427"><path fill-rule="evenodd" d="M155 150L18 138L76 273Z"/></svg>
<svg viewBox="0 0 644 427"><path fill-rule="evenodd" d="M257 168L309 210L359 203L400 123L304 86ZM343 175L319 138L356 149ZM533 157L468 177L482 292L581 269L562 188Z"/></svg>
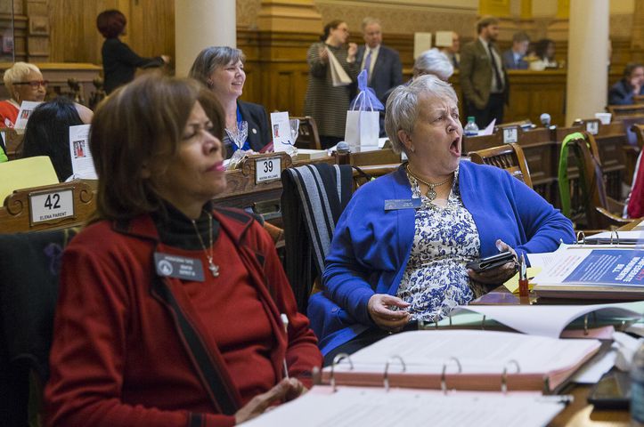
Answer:
<svg viewBox="0 0 644 427"><path fill-rule="evenodd" d="M237 46L234 0L175 0L175 74L185 77L208 46Z"/></svg>

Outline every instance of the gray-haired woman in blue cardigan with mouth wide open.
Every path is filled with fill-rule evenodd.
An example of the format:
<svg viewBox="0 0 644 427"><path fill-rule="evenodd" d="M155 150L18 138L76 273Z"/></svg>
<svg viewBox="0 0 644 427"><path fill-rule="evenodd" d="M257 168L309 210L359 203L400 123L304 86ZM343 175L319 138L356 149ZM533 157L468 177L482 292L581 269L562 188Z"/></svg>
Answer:
<svg viewBox="0 0 644 427"><path fill-rule="evenodd" d="M323 292L308 316L325 362L416 320L443 318L516 272L468 262L511 251L550 252L575 239L571 222L506 171L461 162L452 86L434 76L387 100L387 135L409 163L355 192L338 221Z"/></svg>

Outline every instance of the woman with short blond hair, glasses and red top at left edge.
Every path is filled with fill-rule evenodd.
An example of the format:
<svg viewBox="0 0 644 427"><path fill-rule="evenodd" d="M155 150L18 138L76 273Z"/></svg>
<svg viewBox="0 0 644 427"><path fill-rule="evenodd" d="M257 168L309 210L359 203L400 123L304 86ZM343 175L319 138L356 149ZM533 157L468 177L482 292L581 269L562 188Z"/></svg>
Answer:
<svg viewBox="0 0 644 427"><path fill-rule="evenodd" d="M13 127L22 101L44 101L47 82L34 64L16 62L4 71L4 87L9 99L0 101L0 127Z"/></svg>

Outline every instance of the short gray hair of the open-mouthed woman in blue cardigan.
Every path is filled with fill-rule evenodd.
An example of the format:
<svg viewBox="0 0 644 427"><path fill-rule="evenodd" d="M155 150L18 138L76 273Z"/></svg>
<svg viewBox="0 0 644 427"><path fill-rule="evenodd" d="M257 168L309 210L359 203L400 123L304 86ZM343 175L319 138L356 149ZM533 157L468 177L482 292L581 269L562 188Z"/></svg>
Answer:
<svg viewBox="0 0 644 427"><path fill-rule="evenodd" d="M407 153L403 141L398 138L398 131L410 135L413 133L421 95L437 99L447 98L457 104L459 102L452 85L433 75L420 76L414 78L409 85L396 87L387 99L385 110L385 130L395 153Z"/></svg>

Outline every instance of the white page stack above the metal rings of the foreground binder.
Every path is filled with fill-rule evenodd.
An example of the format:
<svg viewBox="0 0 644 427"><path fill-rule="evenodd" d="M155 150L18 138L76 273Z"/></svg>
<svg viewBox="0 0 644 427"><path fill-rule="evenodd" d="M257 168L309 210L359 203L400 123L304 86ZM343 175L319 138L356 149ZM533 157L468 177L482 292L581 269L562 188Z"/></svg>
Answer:
<svg viewBox="0 0 644 427"><path fill-rule="evenodd" d="M387 360L404 359L411 374L440 373L444 363L457 358L463 374L501 373L509 360L518 360L525 374L575 366L583 355L599 348L597 340L559 340L510 332L472 330L411 331L393 334L351 355L355 371L384 372ZM395 362L389 368L395 372ZM456 372L455 364L447 372ZM335 367L350 370L343 359ZM330 371L330 367L325 367Z"/></svg>

